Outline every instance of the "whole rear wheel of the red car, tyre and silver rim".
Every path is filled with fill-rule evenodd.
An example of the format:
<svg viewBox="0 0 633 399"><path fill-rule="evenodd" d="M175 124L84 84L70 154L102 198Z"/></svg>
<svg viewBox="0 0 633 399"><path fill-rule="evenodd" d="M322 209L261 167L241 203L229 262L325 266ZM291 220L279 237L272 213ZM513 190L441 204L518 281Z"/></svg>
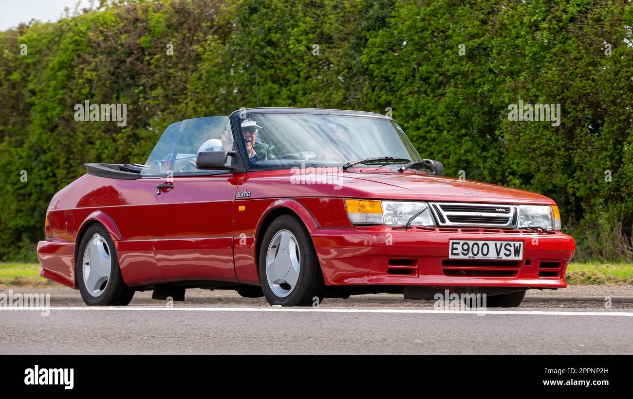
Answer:
<svg viewBox="0 0 633 399"><path fill-rule="evenodd" d="M134 289L123 282L114 242L103 226L85 231L77 255L77 282L85 304L125 306L132 301Z"/></svg>

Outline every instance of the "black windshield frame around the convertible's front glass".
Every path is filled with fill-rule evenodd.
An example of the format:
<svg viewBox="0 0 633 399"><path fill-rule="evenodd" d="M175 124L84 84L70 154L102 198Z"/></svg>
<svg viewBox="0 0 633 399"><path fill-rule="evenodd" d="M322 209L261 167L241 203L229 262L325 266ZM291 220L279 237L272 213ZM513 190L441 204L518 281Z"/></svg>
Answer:
<svg viewBox="0 0 633 399"><path fill-rule="evenodd" d="M296 160L295 162L292 162L292 160L288 159L287 163L285 163L284 165L270 165L269 167L251 167L251 162L248 162L248 160L244 159L246 156L246 144L244 143L244 140L242 140L241 122L244 119L249 119L258 114L259 115L261 114L315 114L315 115L349 116L349 117L365 117L365 118L370 117L370 118L375 118L375 119L385 119L387 121L391 121L392 124L394 124L394 128L396 128L396 130L399 131L398 134L402 134L403 138L406 140L406 143L404 143L404 145L409 146L410 150L413 150L418 155L418 157L420 157L420 160L422 160L422 156L420 156L420 153L418 153L418 150L415 148L413 143L411 143L408 136L406 136L406 133L404 133L404 130L399 126L398 122L396 122L395 119L382 115L382 114L377 114L375 112L365 112L365 111L355 111L355 110L337 110L337 109L250 108L250 109L235 110L229 115L231 128L233 130L233 138L235 140L235 143L237 143L237 156L241 158L242 165L244 165L244 167L246 168L248 172L258 172L258 171L264 171L264 170L290 170L294 167L302 167L302 165L305 167L342 167L342 165L345 164L345 162L342 162L342 163L332 162L332 164L328 165L324 162L310 162L306 160ZM388 155L390 154L385 154L385 156L388 156ZM358 160L360 159L347 160L346 162L355 162ZM355 167L360 167L361 165L363 165L363 167L389 168L391 166L396 166L396 165L399 166L403 164L389 164L389 165L359 164L359 165L356 165ZM353 168L354 167L350 169L353 169Z"/></svg>

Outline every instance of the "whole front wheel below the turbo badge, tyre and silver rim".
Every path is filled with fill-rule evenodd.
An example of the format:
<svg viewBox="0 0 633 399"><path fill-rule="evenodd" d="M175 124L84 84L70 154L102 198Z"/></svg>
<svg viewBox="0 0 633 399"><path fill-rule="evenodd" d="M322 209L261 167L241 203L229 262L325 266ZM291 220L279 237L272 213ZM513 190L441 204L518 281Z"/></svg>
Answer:
<svg viewBox="0 0 633 399"><path fill-rule="evenodd" d="M271 305L313 306L323 300L321 266L310 235L294 216L282 215L270 223L261 243L259 274Z"/></svg>

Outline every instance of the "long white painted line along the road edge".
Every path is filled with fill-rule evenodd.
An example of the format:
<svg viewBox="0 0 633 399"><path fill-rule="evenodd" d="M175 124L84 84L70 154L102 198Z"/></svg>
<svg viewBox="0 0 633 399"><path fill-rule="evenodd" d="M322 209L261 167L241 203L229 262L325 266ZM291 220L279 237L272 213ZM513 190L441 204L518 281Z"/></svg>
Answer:
<svg viewBox="0 0 633 399"><path fill-rule="evenodd" d="M322 309L318 307L158 307L158 306L55 306L0 307L4 311L204 311L204 312L316 312L316 313L413 313L413 314L531 314L545 316L625 316L633 312L614 311L459 311L435 309Z"/></svg>

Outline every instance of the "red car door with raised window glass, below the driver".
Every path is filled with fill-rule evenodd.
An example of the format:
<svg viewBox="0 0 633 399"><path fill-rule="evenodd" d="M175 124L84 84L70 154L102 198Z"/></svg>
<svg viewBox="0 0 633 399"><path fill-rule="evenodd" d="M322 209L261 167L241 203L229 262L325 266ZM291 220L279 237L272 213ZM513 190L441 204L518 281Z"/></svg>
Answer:
<svg viewBox="0 0 633 399"><path fill-rule="evenodd" d="M236 282L233 201L237 179L226 170L199 170L199 150L214 148L229 130L229 117L184 121L169 167L156 186L154 258L167 282ZM216 140L216 141L215 141ZM232 139L231 139L232 141ZM211 148L206 148L211 142Z"/></svg>

